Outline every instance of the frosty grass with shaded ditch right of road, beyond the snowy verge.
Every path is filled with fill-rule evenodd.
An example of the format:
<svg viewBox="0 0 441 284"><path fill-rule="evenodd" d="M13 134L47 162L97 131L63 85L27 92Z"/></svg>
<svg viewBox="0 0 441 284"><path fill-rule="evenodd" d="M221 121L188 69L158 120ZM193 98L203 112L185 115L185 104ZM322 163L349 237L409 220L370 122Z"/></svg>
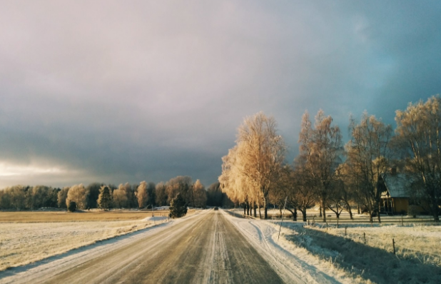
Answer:
<svg viewBox="0 0 441 284"><path fill-rule="evenodd" d="M284 237L348 275L373 283L440 283L439 225L317 225L285 223ZM366 235L366 244L363 233ZM392 253L392 238L396 255Z"/></svg>

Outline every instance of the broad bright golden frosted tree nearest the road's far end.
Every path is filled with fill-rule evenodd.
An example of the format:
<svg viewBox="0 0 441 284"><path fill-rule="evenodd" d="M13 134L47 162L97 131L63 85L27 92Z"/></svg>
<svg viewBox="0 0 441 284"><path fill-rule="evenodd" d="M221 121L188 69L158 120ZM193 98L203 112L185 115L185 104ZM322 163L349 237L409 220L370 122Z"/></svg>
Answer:
<svg viewBox="0 0 441 284"><path fill-rule="evenodd" d="M223 187L233 193L233 198L248 199L257 206L261 202L266 219L269 194L275 188L285 158L285 143L277 134L275 119L262 112L245 118L237 137L228 166L230 173L225 173L229 188ZM221 180L223 178L219 180L222 183Z"/></svg>

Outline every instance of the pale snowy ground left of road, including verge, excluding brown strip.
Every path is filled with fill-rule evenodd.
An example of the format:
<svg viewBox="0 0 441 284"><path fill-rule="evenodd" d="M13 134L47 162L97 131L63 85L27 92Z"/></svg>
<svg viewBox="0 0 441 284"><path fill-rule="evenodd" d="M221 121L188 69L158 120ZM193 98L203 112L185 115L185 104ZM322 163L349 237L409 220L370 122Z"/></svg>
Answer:
<svg viewBox="0 0 441 284"><path fill-rule="evenodd" d="M136 222L69 222L66 224L33 223L31 225L29 223L1 223L0 283L4 282L2 280L4 278L28 270L32 270L33 273L49 268L62 270L72 261L82 262L83 259L92 259L109 250L121 248L123 245L145 238L146 235L164 230L189 218L195 218L201 213L203 211L196 211L183 218L157 222L156 225L142 220ZM146 226L142 228L141 224ZM126 226L133 225L139 230L121 231L127 229ZM116 234L118 231L120 233ZM9 267L15 268L4 270Z"/></svg>

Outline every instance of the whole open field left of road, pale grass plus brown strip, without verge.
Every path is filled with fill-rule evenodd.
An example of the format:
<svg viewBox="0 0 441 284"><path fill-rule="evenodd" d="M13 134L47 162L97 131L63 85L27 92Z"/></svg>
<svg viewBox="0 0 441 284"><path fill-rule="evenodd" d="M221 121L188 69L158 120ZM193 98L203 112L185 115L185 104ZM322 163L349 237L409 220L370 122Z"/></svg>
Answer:
<svg viewBox="0 0 441 284"><path fill-rule="evenodd" d="M190 209L187 215L196 210ZM135 232L167 220L168 211L0 212L0 270Z"/></svg>

